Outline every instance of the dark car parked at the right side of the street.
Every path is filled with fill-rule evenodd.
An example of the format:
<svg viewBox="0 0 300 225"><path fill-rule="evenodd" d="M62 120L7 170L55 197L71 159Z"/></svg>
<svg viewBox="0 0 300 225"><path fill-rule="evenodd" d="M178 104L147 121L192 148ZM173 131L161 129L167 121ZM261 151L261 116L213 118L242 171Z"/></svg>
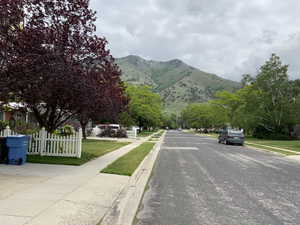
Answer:
<svg viewBox="0 0 300 225"><path fill-rule="evenodd" d="M218 137L219 143L244 145L244 133L241 130L222 130Z"/></svg>

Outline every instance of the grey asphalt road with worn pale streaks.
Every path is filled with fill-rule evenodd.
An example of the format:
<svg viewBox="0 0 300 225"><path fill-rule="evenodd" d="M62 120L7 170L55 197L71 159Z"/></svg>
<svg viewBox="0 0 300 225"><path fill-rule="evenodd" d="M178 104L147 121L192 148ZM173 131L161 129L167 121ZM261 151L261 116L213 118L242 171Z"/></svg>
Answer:
<svg viewBox="0 0 300 225"><path fill-rule="evenodd" d="M300 224L300 162L170 131L136 224Z"/></svg>

